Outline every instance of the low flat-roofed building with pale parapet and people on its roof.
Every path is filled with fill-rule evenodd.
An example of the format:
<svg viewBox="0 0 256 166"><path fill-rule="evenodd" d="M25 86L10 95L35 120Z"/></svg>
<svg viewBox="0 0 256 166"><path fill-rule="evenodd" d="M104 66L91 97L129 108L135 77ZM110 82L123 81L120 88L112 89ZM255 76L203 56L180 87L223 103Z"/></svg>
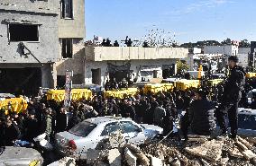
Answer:
<svg viewBox="0 0 256 166"><path fill-rule="evenodd" d="M143 82L176 74L176 61L186 48L86 47L85 83L104 86L107 80Z"/></svg>

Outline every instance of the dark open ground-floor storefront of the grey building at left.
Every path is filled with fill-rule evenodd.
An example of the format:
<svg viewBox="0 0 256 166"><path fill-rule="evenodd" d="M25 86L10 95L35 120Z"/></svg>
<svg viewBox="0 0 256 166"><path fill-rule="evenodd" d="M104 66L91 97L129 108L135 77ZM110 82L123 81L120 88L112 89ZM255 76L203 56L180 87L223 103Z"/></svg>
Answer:
<svg viewBox="0 0 256 166"><path fill-rule="evenodd" d="M50 64L2 64L0 92L36 95L39 87L53 85L52 71Z"/></svg>

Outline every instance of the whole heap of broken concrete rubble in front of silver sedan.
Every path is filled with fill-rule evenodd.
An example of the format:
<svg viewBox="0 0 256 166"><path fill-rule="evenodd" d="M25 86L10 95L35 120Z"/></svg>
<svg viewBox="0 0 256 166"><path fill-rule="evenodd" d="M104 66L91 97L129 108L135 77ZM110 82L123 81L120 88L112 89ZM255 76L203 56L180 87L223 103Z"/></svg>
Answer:
<svg viewBox="0 0 256 166"><path fill-rule="evenodd" d="M211 139L190 135L187 142L177 139L152 140L140 146L128 144L117 135L87 152L87 165L94 166L251 166L256 165L255 138Z"/></svg>

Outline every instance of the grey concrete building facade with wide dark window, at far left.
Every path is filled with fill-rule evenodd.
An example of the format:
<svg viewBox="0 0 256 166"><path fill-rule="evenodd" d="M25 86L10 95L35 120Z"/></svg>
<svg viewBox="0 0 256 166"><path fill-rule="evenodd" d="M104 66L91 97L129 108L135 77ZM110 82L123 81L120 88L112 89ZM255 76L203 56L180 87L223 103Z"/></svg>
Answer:
<svg viewBox="0 0 256 166"><path fill-rule="evenodd" d="M32 94L54 86L58 1L1 0L0 92Z"/></svg>

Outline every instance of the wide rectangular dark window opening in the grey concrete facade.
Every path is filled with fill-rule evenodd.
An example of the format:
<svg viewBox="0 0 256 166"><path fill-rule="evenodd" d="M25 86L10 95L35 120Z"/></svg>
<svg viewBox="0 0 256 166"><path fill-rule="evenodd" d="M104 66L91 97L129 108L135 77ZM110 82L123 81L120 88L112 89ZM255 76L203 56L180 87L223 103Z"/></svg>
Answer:
<svg viewBox="0 0 256 166"><path fill-rule="evenodd" d="M39 41L38 25L9 24L10 41Z"/></svg>

